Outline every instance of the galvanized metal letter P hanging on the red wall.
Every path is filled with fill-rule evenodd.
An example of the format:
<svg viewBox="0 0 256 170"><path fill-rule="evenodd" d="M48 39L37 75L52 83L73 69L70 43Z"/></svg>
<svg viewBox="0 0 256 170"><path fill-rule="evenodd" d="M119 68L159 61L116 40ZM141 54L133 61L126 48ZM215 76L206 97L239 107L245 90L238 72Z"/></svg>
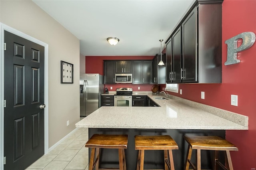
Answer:
<svg viewBox="0 0 256 170"><path fill-rule="evenodd" d="M238 39L242 39L242 45L237 47ZM255 42L255 34L253 32L243 32L225 41L228 45L227 61L224 65L240 63L240 59L237 59L237 53L250 48Z"/></svg>

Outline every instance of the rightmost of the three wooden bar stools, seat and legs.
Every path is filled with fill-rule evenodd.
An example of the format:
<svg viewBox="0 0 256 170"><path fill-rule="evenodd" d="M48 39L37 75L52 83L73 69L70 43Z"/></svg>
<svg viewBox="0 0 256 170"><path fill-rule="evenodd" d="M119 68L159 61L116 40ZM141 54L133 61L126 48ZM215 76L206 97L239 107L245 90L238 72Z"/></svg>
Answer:
<svg viewBox="0 0 256 170"><path fill-rule="evenodd" d="M194 136L194 135L185 135L184 139L188 142L188 152L185 163L185 170L189 169L191 165L194 170L201 170L201 150L215 150L214 158L214 170L216 170L219 165L224 170L233 170L232 161L230 157L230 150L238 151L238 148L228 142L228 140L220 138L218 136ZM196 149L196 166L190 161L192 150ZM224 150L225 152L225 162L227 168L218 160L218 151Z"/></svg>

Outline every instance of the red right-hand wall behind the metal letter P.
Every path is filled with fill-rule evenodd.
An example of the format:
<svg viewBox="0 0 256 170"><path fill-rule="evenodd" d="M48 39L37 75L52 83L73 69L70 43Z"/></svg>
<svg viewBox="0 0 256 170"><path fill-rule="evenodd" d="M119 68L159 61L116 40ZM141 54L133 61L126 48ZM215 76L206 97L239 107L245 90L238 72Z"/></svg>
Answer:
<svg viewBox="0 0 256 170"><path fill-rule="evenodd" d="M224 0L222 4L222 83L180 84L179 89L182 89L182 95L171 94L248 116L249 130L226 130L226 138L239 149L238 152L231 152L234 170L255 170L256 43L238 53L240 63L224 65L227 59L225 40L242 32L256 33L256 0ZM205 92L204 100L201 99L201 91ZM230 105L230 95L238 95L238 107Z"/></svg>

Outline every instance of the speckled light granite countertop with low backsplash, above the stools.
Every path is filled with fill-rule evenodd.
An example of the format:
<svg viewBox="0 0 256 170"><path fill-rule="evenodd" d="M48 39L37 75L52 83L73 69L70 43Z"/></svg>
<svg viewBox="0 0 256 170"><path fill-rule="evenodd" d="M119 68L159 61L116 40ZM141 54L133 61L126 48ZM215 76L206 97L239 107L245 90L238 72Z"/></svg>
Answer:
<svg viewBox="0 0 256 170"><path fill-rule="evenodd" d="M151 128L151 129L216 129L247 130L248 117L215 107L164 94L148 95L160 107L100 107L85 117L76 127L84 128Z"/></svg>

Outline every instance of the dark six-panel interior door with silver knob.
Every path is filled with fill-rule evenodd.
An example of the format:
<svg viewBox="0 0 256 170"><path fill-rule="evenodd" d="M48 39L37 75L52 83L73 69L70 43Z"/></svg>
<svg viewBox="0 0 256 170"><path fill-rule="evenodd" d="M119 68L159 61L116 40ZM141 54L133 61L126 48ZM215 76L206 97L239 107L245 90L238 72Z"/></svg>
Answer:
<svg viewBox="0 0 256 170"><path fill-rule="evenodd" d="M44 154L44 47L4 32L5 170L21 170Z"/></svg>

